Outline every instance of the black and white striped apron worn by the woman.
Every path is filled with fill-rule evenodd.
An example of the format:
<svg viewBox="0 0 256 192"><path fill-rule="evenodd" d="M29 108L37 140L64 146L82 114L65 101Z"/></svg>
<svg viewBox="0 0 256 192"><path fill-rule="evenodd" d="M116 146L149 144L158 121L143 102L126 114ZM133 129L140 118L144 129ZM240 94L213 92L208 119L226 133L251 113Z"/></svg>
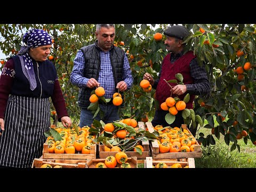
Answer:
<svg viewBox="0 0 256 192"><path fill-rule="evenodd" d="M50 127L49 98L10 95L0 136L0 166L31 167L43 153Z"/></svg>

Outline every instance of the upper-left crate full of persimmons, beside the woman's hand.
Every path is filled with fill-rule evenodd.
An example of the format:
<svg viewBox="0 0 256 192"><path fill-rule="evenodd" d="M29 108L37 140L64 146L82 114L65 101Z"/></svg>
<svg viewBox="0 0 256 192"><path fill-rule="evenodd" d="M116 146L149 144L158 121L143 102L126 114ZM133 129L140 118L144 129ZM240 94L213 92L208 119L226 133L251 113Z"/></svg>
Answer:
<svg viewBox="0 0 256 192"><path fill-rule="evenodd" d="M95 134L89 126L61 128L51 126L45 132L46 142L43 146L44 159L93 159L96 158Z"/></svg>

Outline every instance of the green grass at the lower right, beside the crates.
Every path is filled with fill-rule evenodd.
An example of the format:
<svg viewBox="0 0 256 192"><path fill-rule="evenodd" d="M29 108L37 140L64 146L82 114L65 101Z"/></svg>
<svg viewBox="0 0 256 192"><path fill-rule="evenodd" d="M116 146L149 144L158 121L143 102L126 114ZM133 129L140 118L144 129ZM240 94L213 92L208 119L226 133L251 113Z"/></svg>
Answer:
<svg viewBox="0 0 256 192"><path fill-rule="evenodd" d="M211 129L200 129L198 132L203 132L204 135L211 134ZM197 137L198 135L196 135ZM256 167L256 146L248 140L247 145L243 139L238 140L240 146L240 153L237 148L230 152L230 147L233 142L230 142L229 146L224 141L224 136L221 134L218 140L213 135L216 145L203 147L202 157L195 158L196 168L252 168Z"/></svg>

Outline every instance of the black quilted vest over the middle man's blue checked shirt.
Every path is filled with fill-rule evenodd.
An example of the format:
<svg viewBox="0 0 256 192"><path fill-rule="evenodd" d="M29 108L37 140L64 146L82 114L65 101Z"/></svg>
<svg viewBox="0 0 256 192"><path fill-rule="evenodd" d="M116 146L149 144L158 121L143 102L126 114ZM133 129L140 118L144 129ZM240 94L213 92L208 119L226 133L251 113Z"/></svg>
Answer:
<svg viewBox="0 0 256 192"><path fill-rule="evenodd" d="M83 76L86 78L94 78L98 81L100 73L100 47L95 42L92 45L84 46L81 48L85 59L85 68ZM124 68L124 51L118 47L113 46L109 50L111 66L114 74L115 86L118 82L123 81L123 68ZM92 90L88 87L80 88L78 94L78 106L87 108L90 105L89 98ZM117 92L117 90L116 90ZM114 93L113 93L114 94ZM106 98L107 99L107 98Z"/></svg>

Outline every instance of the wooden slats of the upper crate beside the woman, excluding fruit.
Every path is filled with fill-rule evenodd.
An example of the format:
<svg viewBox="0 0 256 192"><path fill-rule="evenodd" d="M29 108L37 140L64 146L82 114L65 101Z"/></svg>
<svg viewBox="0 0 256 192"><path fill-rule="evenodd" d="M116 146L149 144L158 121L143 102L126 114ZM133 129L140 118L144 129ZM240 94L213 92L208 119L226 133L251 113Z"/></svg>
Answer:
<svg viewBox="0 0 256 192"><path fill-rule="evenodd" d="M93 159L96 158L96 144L91 145L90 154L51 154L48 145L44 143L43 158L44 159Z"/></svg>

